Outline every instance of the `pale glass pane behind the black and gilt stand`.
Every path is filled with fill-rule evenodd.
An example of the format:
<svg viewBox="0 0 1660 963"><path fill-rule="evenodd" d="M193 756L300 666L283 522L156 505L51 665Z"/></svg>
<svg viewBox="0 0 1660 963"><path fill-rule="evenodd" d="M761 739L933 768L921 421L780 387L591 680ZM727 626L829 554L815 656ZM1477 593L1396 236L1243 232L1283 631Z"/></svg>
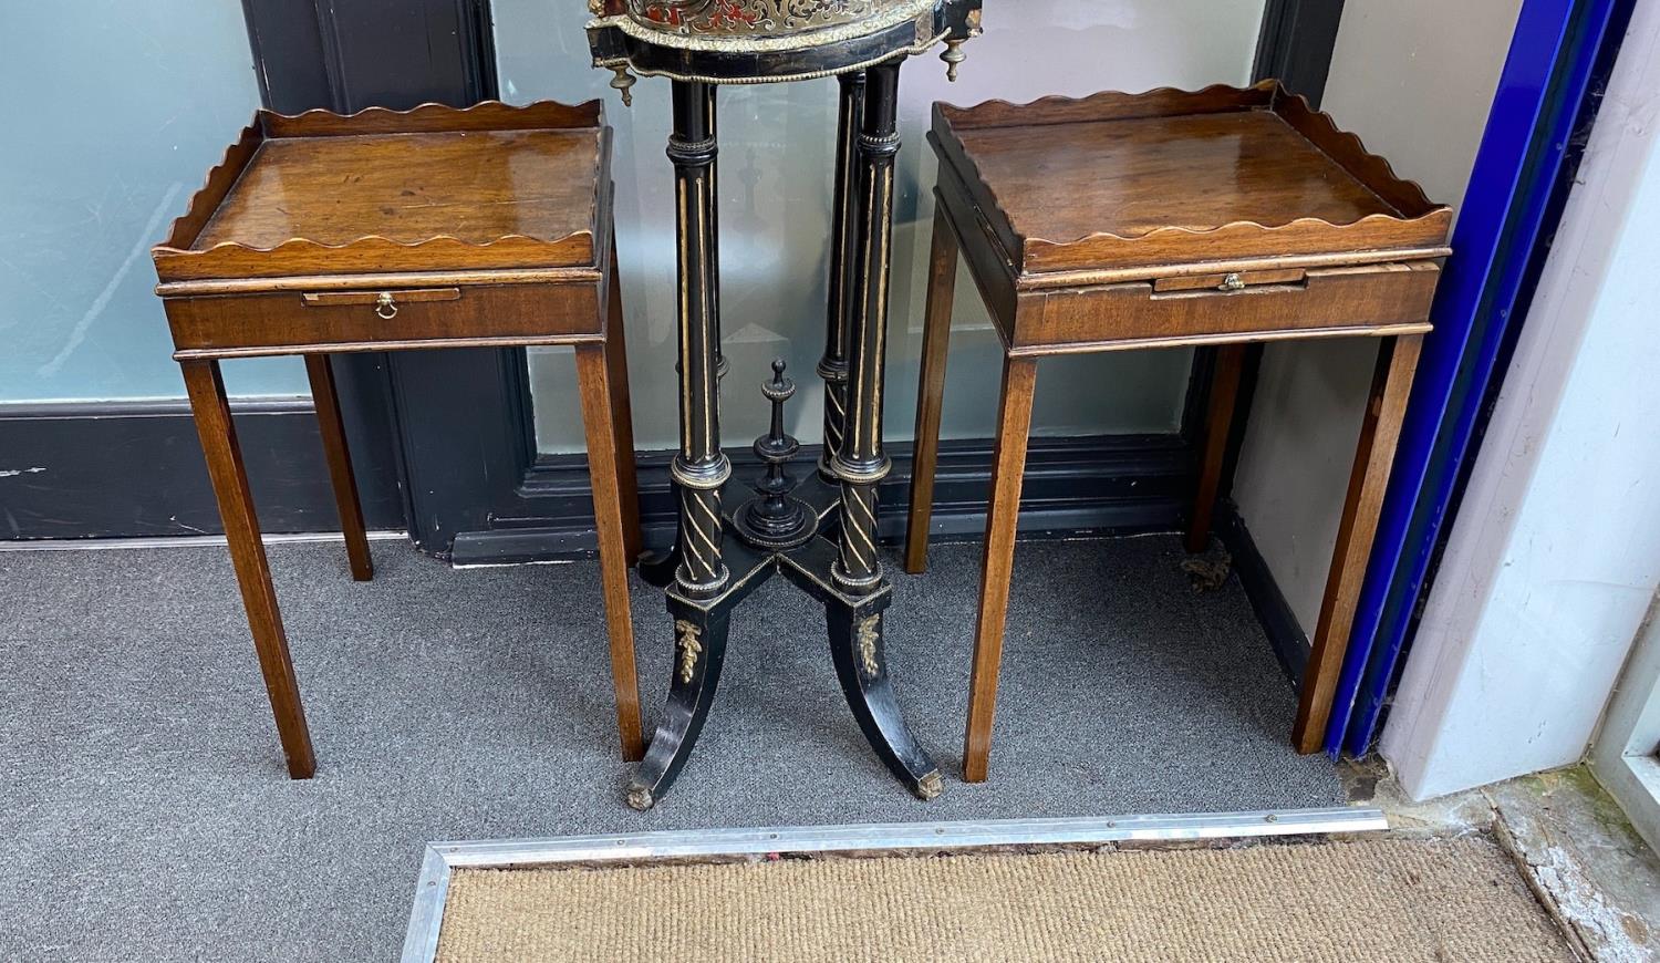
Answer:
<svg viewBox="0 0 1660 963"><path fill-rule="evenodd" d="M604 98L616 128L618 239L627 312L636 443L676 445L674 209L669 83L644 78L626 110L609 71L589 66L584 17L576 3L495 0L503 96ZM1049 93L1199 88L1248 80L1262 0L993 2L986 37L968 46L963 81L918 58L901 90L900 179L895 222L893 319L888 357L886 435L910 438L916 402L928 244L933 232L935 159L925 134L935 100L979 103ZM1111 51L1111 56L1104 56ZM732 374L724 385L727 447L765 430L759 384L784 357L802 390L792 432L820 442L823 394L813 367L823 352L835 164L837 85L720 90L722 327ZM531 392L543 452L578 452L583 430L568 354L533 352ZM968 271L959 272L943 433L984 438L996 425L1001 352ZM1039 435L1172 432L1187 392L1189 352L1137 352L1051 359L1038 384Z"/></svg>

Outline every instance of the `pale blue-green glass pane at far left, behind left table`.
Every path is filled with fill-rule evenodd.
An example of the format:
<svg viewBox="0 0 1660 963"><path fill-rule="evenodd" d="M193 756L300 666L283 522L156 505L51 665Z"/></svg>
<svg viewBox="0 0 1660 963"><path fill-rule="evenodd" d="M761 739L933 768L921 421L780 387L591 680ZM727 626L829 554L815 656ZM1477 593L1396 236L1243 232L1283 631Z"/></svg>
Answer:
<svg viewBox="0 0 1660 963"><path fill-rule="evenodd" d="M183 397L149 246L259 106L237 3L8 3L0 402ZM304 395L295 359L226 365Z"/></svg>

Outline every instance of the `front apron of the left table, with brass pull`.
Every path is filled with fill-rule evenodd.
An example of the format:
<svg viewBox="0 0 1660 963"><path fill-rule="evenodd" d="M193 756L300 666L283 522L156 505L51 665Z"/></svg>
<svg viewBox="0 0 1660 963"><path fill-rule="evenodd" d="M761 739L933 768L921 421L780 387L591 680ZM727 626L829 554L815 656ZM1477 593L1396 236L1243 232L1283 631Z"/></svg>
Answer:
<svg viewBox="0 0 1660 963"><path fill-rule="evenodd" d="M181 354L554 344L604 334L598 284L495 284L169 297Z"/></svg>

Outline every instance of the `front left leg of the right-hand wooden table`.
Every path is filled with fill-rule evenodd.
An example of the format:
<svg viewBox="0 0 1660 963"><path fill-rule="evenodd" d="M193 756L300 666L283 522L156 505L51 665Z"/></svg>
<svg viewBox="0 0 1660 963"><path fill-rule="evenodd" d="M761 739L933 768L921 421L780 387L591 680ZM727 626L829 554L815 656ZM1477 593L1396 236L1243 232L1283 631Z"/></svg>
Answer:
<svg viewBox="0 0 1660 963"><path fill-rule="evenodd" d="M1003 666L1003 629L1014 573L1014 533L1021 516L1021 480L1036 385L1036 359L1004 359L991 503L986 508L986 556L979 576L974 667L968 682L968 734L963 741L963 779L968 782L984 782L991 762L991 726L998 711L998 671Z"/></svg>

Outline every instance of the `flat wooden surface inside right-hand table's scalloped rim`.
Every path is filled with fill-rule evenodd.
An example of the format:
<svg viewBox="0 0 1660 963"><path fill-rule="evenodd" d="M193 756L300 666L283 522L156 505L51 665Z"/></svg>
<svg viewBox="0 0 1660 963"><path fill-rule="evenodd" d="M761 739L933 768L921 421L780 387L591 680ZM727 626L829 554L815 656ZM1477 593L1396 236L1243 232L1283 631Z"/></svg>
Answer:
<svg viewBox="0 0 1660 963"><path fill-rule="evenodd" d="M1028 239L1399 214L1270 111L968 130L961 141Z"/></svg>

